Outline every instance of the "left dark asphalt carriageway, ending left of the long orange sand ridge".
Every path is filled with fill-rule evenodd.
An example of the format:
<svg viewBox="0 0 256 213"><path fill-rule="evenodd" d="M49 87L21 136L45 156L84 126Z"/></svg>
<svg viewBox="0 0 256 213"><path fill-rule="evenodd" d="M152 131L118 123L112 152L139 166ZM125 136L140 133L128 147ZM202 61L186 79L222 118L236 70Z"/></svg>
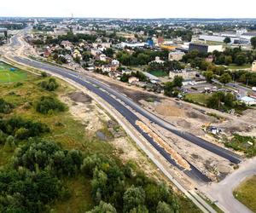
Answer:
<svg viewBox="0 0 256 213"><path fill-rule="evenodd" d="M90 78L81 78L79 76L78 72L73 72L67 69L63 69L60 67L56 66L51 66L48 64L44 64L35 60L27 60L23 59L20 57L15 57L15 60L26 64L28 66L33 66L37 67L39 69L44 69L48 70L49 72L54 72L56 74L61 75L64 78L69 78L73 80L76 83L81 84L84 86L86 89L89 89L91 92L95 93L96 95L100 96L104 101L107 101L108 104L110 104L112 107L114 107L119 113L121 113L125 119L140 133L143 135L144 138L164 157L166 160L172 164L173 166L177 167L178 170L182 170L187 176L192 178L195 181L200 181L200 182L209 182L210 179L205 176L204 174L201 173L200 170L196 169L195 166L192 164L190 165L191 170L184 170L183 167L181 167L179 164L176 163L175 160L173 160L170 156L169 153L166 153L165 149L160 147L157 143L154 142L154 140L148 136L148 134L144 133L143 130L141 130L137 124L136 121L139 121L140 118L137 117L137 115L134 112L131 112L127 107L125 107L122 103L117 101L117 98L115 98L113 95L109 95L108 90L102 90L105 89L106 87L108 88L107 85L100 83L96 84L96 81ZM104 85L104 88L102 86ZM125 97L126 98L126 97ZM123 100L122 100L123 101ZM189 162L188 162L189 163Z"/></svg>

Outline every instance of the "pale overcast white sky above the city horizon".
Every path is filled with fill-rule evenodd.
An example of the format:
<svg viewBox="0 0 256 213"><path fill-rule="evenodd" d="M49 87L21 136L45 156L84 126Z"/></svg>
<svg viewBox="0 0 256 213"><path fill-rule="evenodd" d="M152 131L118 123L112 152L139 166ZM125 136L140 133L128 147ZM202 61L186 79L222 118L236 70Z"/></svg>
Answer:
<svg viewBox="0 0 256 213"><path fill-rule="evenodd" d="M256 18L256 0L1 0L0 17Z"/></svg>

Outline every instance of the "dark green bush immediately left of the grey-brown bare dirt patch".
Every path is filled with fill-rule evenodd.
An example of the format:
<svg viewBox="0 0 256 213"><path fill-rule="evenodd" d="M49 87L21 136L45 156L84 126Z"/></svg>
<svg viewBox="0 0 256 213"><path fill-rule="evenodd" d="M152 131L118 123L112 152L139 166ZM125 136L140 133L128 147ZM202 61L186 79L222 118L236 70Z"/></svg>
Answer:
<svg viewBox="0 0 256 213"><path fill-rule="evenodd" d="M42 96L36 104L36 110L42 114L50 114L51 112L64 112L67 107L54 97Z"/></svg>

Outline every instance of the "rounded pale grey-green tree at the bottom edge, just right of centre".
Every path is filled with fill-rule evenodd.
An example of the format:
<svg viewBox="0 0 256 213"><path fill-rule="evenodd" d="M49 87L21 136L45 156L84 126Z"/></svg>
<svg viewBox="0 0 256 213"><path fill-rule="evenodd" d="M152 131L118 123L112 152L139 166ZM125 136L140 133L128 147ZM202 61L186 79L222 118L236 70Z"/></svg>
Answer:
<svg viewBox="0 0 256 213"><path fill-rule="evenodd" d="M130 187L124 194L124 212L137 208L145 203L145 192L142 187Z"/></svg>

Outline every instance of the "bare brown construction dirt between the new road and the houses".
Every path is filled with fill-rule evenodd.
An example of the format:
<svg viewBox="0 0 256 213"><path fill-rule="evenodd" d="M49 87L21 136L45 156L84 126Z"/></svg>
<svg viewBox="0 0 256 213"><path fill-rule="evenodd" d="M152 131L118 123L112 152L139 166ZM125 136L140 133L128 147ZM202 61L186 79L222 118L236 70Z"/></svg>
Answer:
<svg viewBox="0 0 256 213"><path fill-rule="evenodd" d="M188 102L176 101L164 95L154 94L136 86L131 86L128 83L120 83L106 76L96 75L94 73L91 75L100 78L102 82L124 93L133 101L136 101L161 118L165 118L181 130L187 130L195 135L205 137L205 132L201 130L201 127L204 124L211 124L222 129L226 135L238 133L241 135L256 136L255 109L249 109L243 112L241 117L237 117ZM218 114L218 116L224 119L219 120L201 111Z"/></svg>

